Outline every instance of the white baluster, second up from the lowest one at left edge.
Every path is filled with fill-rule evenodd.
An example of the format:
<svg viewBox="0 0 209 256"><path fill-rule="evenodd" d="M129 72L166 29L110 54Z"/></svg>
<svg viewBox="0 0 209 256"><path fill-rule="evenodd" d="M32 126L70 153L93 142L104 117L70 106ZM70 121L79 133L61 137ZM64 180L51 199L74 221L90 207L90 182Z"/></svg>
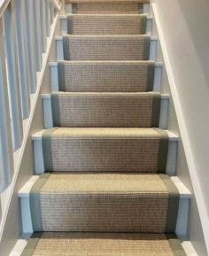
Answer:
<svg viewBox="0 0 209 256"><path fill-rule="evenodd" d="M16 27L12 3L4 11L4 35L6 48L6 61L8 71L8 84L10 96L10 110L12 118L12 144L16 151L22 144L23 128L19 94L19 69L16 46Z"/></svg>

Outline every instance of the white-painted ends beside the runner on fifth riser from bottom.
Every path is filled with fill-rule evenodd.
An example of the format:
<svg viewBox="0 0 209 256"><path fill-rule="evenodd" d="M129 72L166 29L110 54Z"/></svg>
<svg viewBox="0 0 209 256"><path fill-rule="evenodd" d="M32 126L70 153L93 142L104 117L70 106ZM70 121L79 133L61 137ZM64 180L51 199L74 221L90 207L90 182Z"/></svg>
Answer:
<svg viewBox="0 0 209 256"><path fill-rule="evenodd" d="M63 37L57 36L55 39L56 39L56 47L57 47L57 60L63 60L64 59ZM156 60L157 42L158 42L158 38L151 37L150 58L147 58L147 59Z"/></svg>

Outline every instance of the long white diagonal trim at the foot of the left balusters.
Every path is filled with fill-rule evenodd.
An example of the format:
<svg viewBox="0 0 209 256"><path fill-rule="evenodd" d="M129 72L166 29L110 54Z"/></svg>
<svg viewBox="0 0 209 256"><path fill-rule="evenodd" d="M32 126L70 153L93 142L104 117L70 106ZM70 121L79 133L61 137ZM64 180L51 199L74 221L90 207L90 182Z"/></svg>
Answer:
<svg viewBox="0 0 209 256"><path fill-rule="evenodd" d="M29 118L27 120L24 120L27 125L26 125L26 127L24 127L23 142L22 142L22 145L21 145L21 147L18 151L17 156L14 156L15 171L14 171L14 176L13 176L13 179L12 179L12 183L8 187L7 193L5 193L6 198L4 198L4 195L1 195L2 198L4 199L4 202L6 203L6 206L4 207L3 218L2 218L1 225L0 225L0 241L2 240L2 237L3 237L5 222L6 222L7 215L9 213L9 208L10 208L10 205L11 205L11 202L12 202L12 196L13 196L14 188L15 188L17 178L18 178L18 175L19 175L19 167L20 167L21 159L23 157L23 153L24 153L26 144L27 144L27 138L29 136L29 130L30 130L31 123L32 123L32 120L33 120L33 117L34 117L34 113L35 113L35 105L36 105L38 97L39 97L39 93L40 93L40 89L41 89L41 85L42 85L42 81L43 81L43 74L44 74L44 71L46 69L48 58L49 58L49 55L50 55L50 46L51 46L51 43L53 41L53 35L54 35L54 32L55 32L55 27L57 25L57 21L58 21L58 14L57 14L56 18L54 19L53 24L51 25L51 34L50 34L50 38L48 38L48 42L47 42L47 51L46 51L45 54L43 54L43 68L42 68L42 71L38 74L37 89L36 89L35 96L34 96L34 99L33 99L34 102L31 105L31 112L30 112Z"/></svg>

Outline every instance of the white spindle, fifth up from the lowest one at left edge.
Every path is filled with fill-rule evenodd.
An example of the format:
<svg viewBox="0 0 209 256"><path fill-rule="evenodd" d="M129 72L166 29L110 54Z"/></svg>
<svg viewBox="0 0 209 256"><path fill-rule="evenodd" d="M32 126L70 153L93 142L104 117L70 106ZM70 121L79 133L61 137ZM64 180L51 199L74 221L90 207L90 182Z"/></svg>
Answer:
<svg viewBox="0 0 209 256"><path fill-rule="evenodd" d="M28 1L28 0L27 0ZM34 4L34 29L35 29L35 57L37 71L42 70L42 33L41 33L41 15L40 0L33 0Z"/></svg>

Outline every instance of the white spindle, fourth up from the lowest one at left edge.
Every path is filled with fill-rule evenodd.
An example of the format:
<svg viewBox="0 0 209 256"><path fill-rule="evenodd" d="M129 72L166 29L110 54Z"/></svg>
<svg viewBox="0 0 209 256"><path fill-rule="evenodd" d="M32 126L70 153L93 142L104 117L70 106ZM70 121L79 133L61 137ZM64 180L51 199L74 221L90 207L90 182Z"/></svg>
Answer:
<svg viewBox="0 0 209 256"><path fill-rule="evenodd" d="M34 33L34 10L33 2L25 0L26 10L26 29L27 29L27 55L28 55L28 70L30 93L35 93L36 90L36 58L35 58L35 33Z"/></svg>

